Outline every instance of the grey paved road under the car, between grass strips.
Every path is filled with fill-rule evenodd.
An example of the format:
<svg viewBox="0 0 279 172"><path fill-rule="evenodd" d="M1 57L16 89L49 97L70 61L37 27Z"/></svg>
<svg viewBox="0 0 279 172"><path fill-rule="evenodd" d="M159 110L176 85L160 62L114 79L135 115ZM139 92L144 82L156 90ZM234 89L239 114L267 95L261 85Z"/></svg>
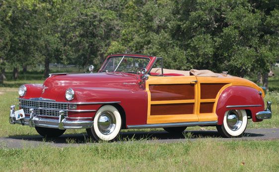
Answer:
<svg viewBox="0 0 279 172"><path fill-rule="evenodd" d="M266 128L266 129L247 129L245 136L242 138L220 138L217 131L186 131L184 134L172 135L165 131L154 132L121 132L120 138L122 142L128 143L127 140L152 143L173 143L186 141L185 135L189 135L191 132L191 141L210 138L218 141L228 140L279 140L279 128ZM189 133L189 134L187 134ZM142 139L143 138L143 139ZM126 141L125 141L126 140ZM188 139L189 140L189 139ZM74 141L74 143L73 143ZM118 141L121 142L121 141ZM52 145L55 147L67 147L67 146L80 146L90 145L96 143L88 142L86 134L74 134L74 135L62 135L56 139L45 139L39 135L34 136L9 136L0 138L0 148L23 148L23 147L37 147L40 145Z"/></svg>

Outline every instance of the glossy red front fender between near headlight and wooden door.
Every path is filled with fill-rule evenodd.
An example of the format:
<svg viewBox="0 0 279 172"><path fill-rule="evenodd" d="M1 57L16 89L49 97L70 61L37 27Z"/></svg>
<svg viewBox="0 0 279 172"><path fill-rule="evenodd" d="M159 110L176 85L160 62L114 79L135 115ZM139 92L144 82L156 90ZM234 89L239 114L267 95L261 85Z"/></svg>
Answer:
<svg viewBox="0 0 279 172"><path fill-rule="evenodd" d="M74 99L70 102L120 102L126 114L126 125L146 123L147 92L143 89L131 90L110 87L72 87ZM63 95L59 97L65 97ZM99 104L101 107L102 104ZM98 109L96 109L98 110Z"/></svg>

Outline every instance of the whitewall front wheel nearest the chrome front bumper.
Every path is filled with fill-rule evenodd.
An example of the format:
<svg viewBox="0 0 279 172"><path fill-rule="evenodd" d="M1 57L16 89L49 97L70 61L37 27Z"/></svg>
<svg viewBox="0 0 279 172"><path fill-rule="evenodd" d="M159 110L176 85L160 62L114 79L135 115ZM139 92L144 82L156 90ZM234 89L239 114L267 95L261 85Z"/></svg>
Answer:
<svg viewBox="0 0 279 172"><path fill-rule="evenodd" d="M94 124L87 128L87 134L95 141L114 141L121 130L122 119L119 111L112 105L102 106L94 117Z"/></svg>

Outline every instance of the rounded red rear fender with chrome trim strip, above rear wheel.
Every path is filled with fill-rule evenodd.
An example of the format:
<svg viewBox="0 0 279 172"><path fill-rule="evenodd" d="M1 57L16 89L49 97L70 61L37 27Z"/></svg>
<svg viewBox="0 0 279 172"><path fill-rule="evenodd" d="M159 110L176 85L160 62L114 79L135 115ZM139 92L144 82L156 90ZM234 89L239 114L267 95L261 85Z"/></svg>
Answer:
<svg viewBox="0 0 279 172"><path fill-rule="evenodd" d="M233 107L227 108L230 105L261 105L255 107ZM229 86L225 88L217 102L216 114L218 117L218 125L223 124L224 114L227 110L231 109L245 109L250 110L252 115L252 120L254 122L259 122L256 118L256 113L263 111L265 108L264 99L259 94L259 91L255 88L249 86Z"/></svg>

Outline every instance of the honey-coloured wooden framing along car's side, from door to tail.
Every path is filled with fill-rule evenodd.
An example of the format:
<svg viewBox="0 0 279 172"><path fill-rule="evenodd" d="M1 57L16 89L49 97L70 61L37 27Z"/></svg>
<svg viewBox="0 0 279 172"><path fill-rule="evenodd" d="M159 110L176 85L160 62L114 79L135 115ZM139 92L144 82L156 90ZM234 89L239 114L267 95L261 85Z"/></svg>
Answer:
<svg viewBox="0 0 279 172"><path fill-rule="evenodd" d="M175 85L194 85L194 98L193 99L177 99L171 100L169 96L167 100L163 100L164 96L168 93L162 92L161 100L152 100L152 94L154 94L153 85L169 85L170 91L176 89ZM151 86L151 87L150 87ZM247 86L254 88L258 91L262 91L260 87L253 82L247 81L242 78L223 76L219 77L196 77L196 76L173 76L173 77L155 77L150 76L146 81L146 91L148 97L147 107L147 124L159 124L159 123L175 123L175 122L205 122L205 121L217 121L218 114L216 113L216 107L219 96L224 89L230 86ZM179 91L178 91L179 92ZM191 94L191 93L189 93ZM264 96L264 95L263 95ZM158 98L158 95L156 95ZM166 112L155 113L152 110L152 105L167 105L167 104L190 104L194 103L193 113L181 113L178 114L166 114ZM241 100L239 100L241 104ZM175 106L170 106L175 108ZM185 106L186 107L186 106ZM189 107L189 106L188 106ZM223 107L225 108L225 107ZM166 110L166 108L163 108ZM177 110L177 109L175 109ZM178 109L179 110L179 109ZM189 110L188 110L189 112ZM155 113L155 115L154 115ZM221 115L220 115L221 116ZM219 121L219 120L218 120Z"/></svg>

